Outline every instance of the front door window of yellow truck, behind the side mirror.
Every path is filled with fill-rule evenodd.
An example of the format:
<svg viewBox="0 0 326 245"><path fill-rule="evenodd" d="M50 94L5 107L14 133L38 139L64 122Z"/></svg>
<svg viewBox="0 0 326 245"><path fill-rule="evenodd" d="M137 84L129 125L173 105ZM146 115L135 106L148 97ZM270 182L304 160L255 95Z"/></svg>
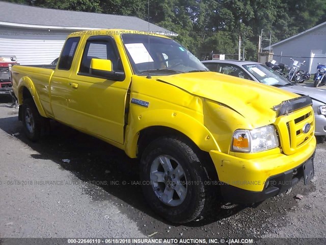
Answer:
<svg viewBox="0 0 326 245"><path fill-rule="evenodd" d="M82 62L80 63L80 75L90 75L91 60L105 59L111 60L113 70L123 72L121 59L117 48L111 37L90 37L86 43Z"/></svg>

